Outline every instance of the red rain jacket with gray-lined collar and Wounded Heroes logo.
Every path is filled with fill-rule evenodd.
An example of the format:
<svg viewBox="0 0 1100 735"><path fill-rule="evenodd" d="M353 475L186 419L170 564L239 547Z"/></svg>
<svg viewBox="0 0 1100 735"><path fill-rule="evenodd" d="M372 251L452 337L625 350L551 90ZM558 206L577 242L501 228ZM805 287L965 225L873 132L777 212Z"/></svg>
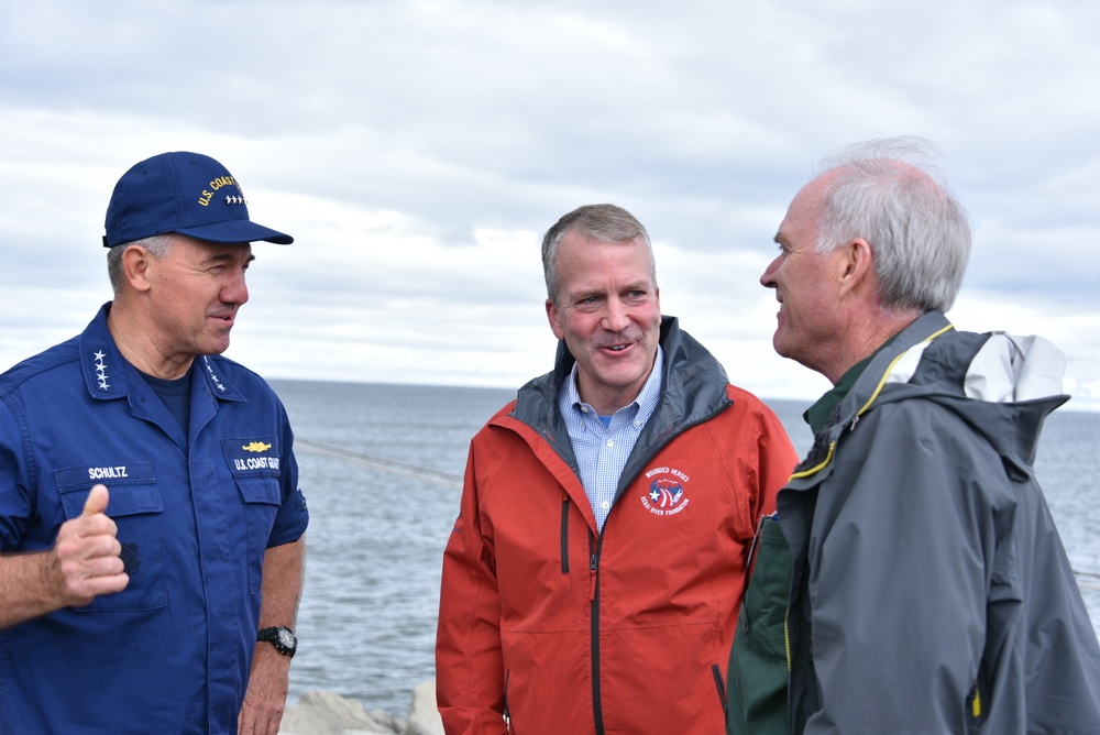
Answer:
<svg viewBox="0 0 1100 735"><path fill-rule="evenodd" d="M443 558L447 733L724 733L748 546L798 457L779 419L664 319L662 402L603 533L557 409L572 356L471 442ZM625 482L629 479L628 482Z"/></svg>

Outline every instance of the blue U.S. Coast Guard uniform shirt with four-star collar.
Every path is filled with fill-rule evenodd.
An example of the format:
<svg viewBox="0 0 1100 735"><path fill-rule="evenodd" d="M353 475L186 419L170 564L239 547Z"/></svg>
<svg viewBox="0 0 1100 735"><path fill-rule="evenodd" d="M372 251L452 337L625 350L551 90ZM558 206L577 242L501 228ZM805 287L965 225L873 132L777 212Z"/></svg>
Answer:
<svg viewBox="0 0 1100 735"><path fill-rule="evenodd" d="M0 551L51 548L101 482L130 574L0 630L0 733L235 732L264 550L309 520L290 426L260 376L197 358L185 436L109 309L0 376Z"/></svg>

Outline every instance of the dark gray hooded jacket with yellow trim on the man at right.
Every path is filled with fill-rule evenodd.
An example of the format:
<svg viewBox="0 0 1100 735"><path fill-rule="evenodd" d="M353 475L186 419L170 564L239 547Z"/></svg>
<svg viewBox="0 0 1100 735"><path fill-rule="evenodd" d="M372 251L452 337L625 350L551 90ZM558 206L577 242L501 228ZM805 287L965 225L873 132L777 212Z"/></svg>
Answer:
<svg viewBox="0 0 1100 735"><path fill-rule="evenodd" d="M1033 462L1041 338L924 315L779 494L794 733L1100 733L1100 647Z"/></svg>

